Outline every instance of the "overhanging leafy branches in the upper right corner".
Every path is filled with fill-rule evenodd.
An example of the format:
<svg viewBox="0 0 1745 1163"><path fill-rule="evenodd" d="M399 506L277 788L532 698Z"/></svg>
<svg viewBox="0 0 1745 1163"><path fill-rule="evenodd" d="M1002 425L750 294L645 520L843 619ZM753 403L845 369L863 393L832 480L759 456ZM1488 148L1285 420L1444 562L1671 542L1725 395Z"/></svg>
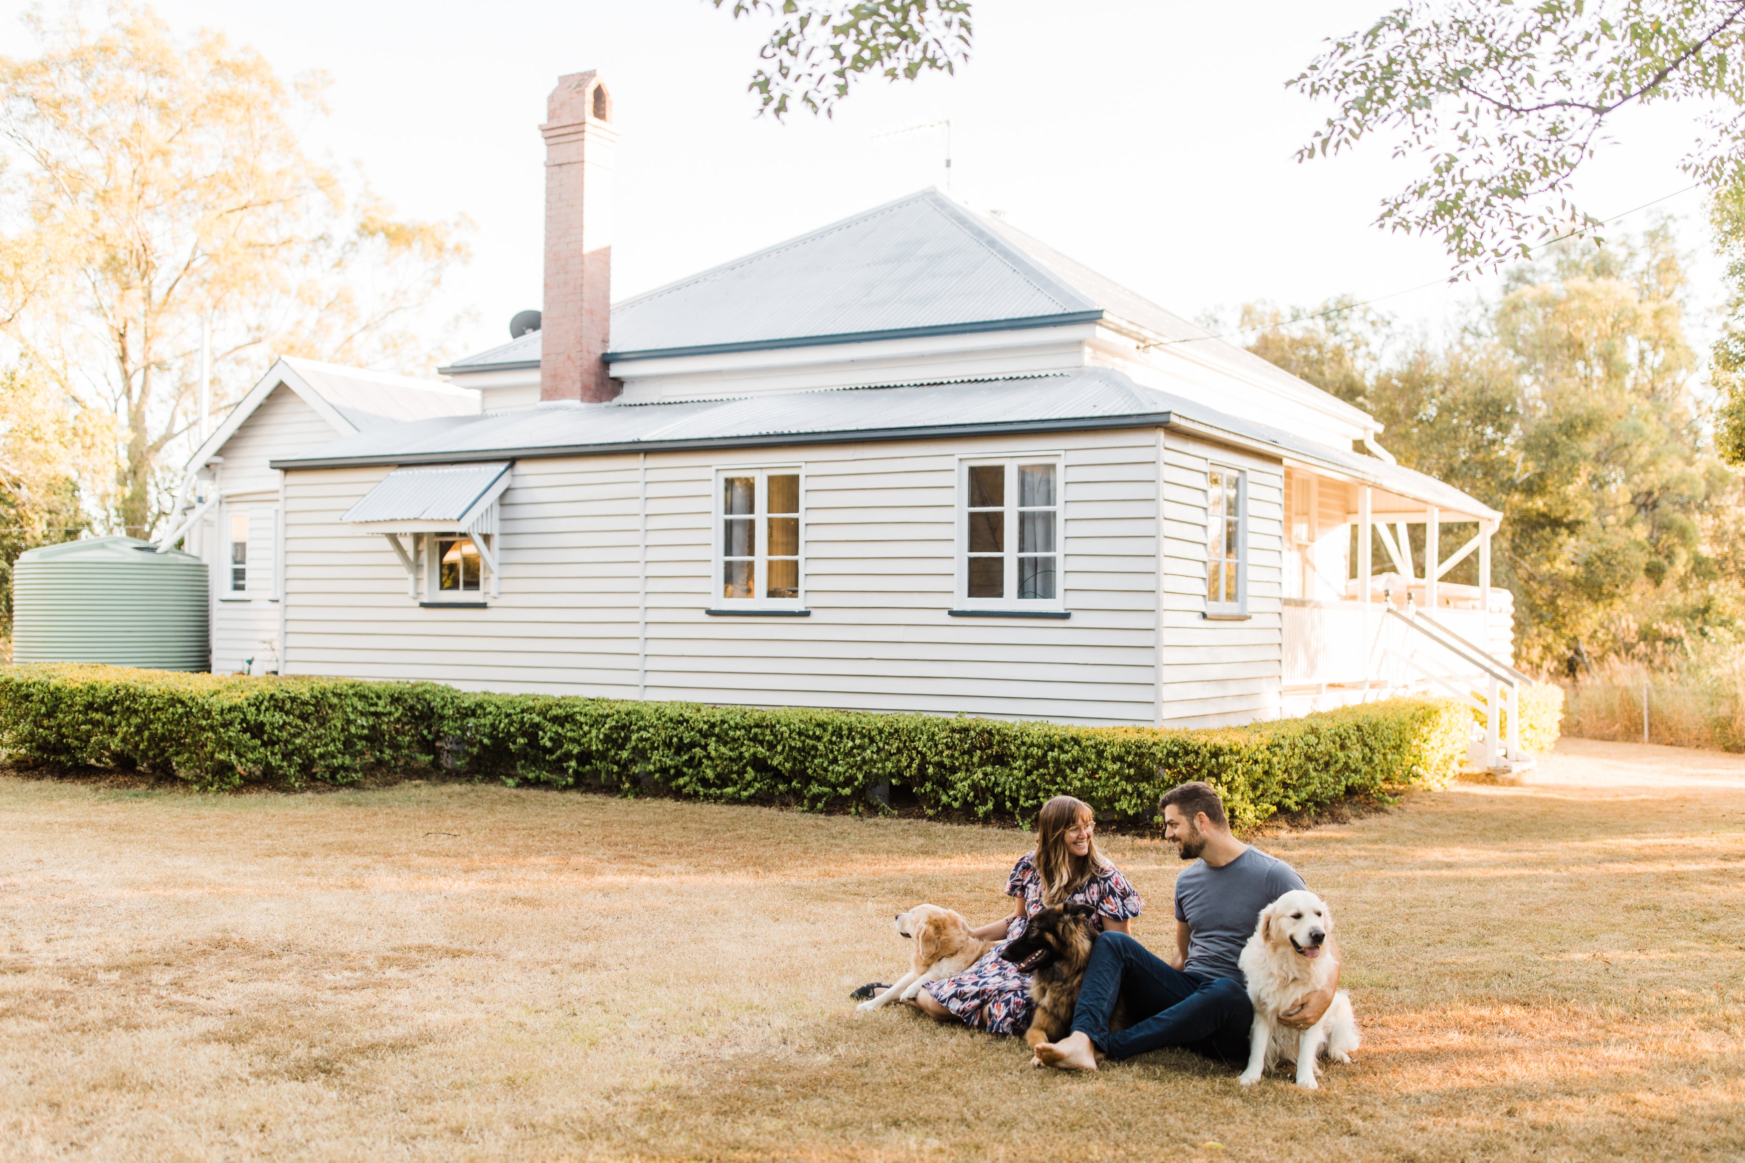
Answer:
<svg viewBox="0 0 1745 1163"><path fill-rule="evenodd" d="M1422 169L1377 223L1438 235L1457 272L1494 270L1604 225L1569 185L1626 106L1712 108L1684 169L1717 194L1745 185L1742 49L1745 0L1415 0L1290 82L1335 103L1297 157L1391 139Z"/></svg>

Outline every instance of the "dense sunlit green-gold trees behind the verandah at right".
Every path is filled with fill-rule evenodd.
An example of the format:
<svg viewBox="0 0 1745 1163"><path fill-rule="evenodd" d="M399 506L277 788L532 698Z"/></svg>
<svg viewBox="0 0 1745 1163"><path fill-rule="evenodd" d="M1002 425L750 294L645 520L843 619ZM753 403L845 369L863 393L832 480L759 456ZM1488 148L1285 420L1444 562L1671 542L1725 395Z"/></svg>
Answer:
<svg viewBox="0 0 1745 1163"><path fill-rule="evenodd" d="M1368 408L1401 464L1502 511L1495 570L1522 657L1557 668L1577 642L1653 654L1745 609L1722 570L1742 535L1738 481L1691 396L1684 289L1661 223L1511 269L1441 343L1356 343L1333 316L1253 350Z"/></svg>

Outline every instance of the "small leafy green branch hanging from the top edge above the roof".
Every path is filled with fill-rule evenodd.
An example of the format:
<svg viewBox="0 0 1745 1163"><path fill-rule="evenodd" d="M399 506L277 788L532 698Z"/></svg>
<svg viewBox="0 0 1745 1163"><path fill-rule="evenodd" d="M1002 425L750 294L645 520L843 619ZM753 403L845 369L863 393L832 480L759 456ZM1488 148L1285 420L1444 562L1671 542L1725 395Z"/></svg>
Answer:
<svg viewBox="0 0 1745 1163"><path fill-rule="evenodd" d="M766 61L749 92L759 113L780 120L794 105L831 117L864 77L914 80L923 71L956 73L970 56L970 0L708 0L735 19L764 12L778 17L759 51Z"/></svg>

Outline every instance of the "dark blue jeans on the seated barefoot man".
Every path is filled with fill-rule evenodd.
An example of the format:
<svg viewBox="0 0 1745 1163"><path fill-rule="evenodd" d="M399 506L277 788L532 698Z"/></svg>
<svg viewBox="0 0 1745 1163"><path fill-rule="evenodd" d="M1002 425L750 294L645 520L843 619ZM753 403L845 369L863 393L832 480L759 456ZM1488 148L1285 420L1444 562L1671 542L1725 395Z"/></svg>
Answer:
<svg viewBox="0 0 1745 1163"><path fill-rule="evenodd" d="M1127 1003L1134 1024L1112 1034L1108 1020L1117 1001ZM1098 935L1073 1010L1073 1030L1117 1060L1187 1046L1244 1065L1253 1020L1255 1008L1241 982L1173 969L1126 933Z"/></svg>

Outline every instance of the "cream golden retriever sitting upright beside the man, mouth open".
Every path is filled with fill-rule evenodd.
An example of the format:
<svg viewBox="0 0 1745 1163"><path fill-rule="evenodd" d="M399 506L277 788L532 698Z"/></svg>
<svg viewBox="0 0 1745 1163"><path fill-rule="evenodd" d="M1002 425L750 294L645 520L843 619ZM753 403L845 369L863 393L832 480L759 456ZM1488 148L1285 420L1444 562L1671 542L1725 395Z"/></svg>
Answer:
<svg viewBox="0 0 1745 1163"><path fill-rule="evenodd" d="M1255 935L1242 947L1237 964L1248 976L1248 999L1255 1003L1255 1029L1248 1043L1248 1069L1242 1085L1253 1086L1276 1062L1297 1062L1297 1085L1317 1086L1316 1062L1324 1053L1333 1062L1351 1062L1358 1048L1358 1022L1345 990L1333 994L1333 1004L1305 1030L1279 1022L1305 994L1326 989L1337 971L1326 954L1333 931L1333 914L1314 893L1297 889L1260 912Z"/></svg>

